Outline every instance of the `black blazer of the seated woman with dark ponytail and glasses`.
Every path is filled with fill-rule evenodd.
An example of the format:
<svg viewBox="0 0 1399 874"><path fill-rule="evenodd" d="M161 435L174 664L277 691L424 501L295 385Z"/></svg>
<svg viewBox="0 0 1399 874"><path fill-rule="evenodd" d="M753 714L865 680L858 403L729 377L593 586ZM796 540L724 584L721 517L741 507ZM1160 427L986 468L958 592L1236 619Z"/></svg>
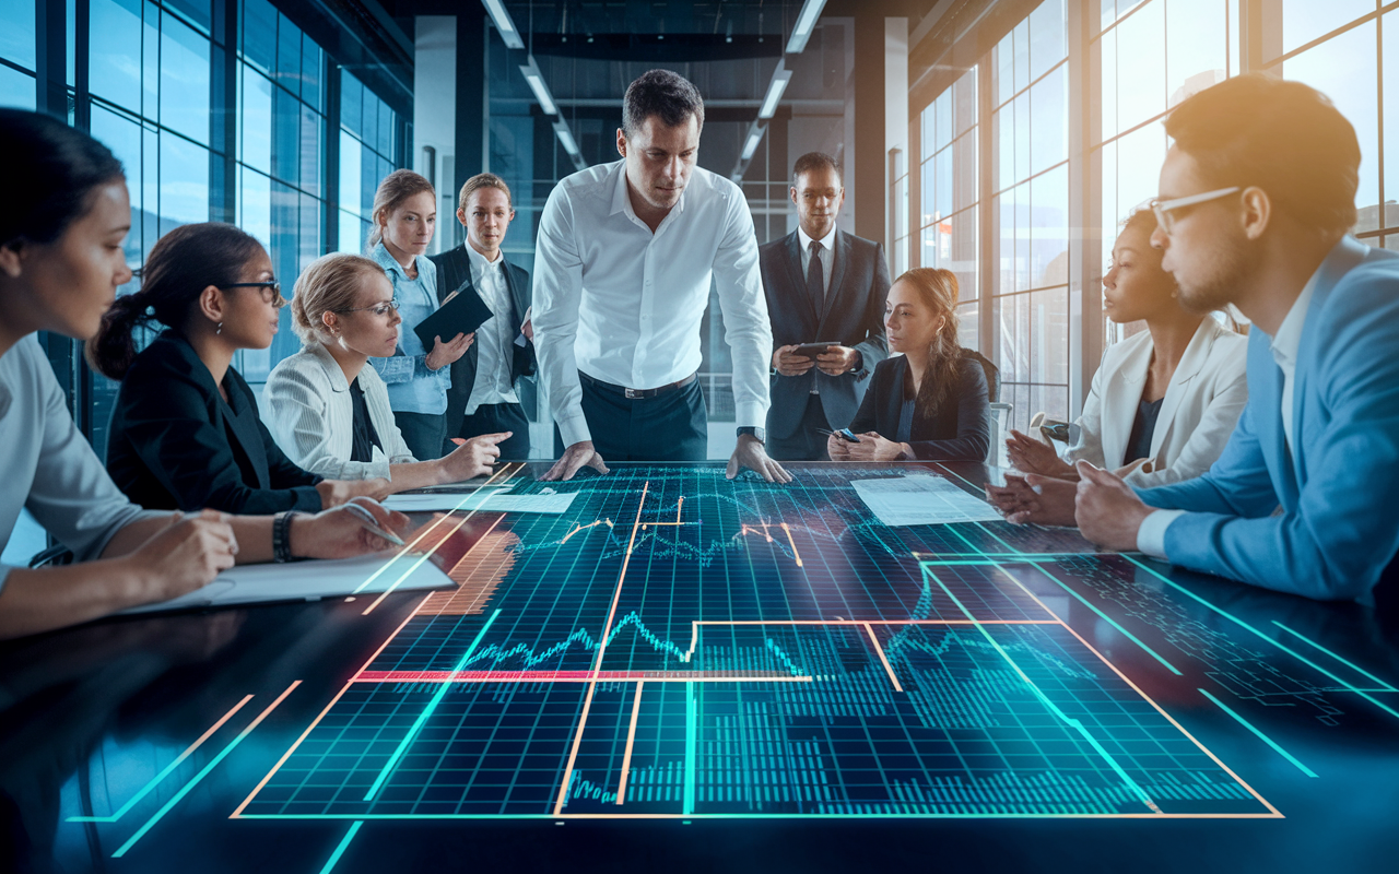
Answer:
<svg viewBox="0 0 1399 874"><path fill-rule="evenodd" d="M228 401L175 330L136 357L112 410L106 470L145 509L264 515L320 512L320 477L297 467L257 415L234 368Z"/></svg>

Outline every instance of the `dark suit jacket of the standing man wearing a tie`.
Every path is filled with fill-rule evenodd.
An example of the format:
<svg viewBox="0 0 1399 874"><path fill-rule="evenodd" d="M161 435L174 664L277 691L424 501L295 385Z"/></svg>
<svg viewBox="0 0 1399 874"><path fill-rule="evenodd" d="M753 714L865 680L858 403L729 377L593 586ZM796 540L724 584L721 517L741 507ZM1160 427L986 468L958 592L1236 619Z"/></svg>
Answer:
<svg viewBox="0 0 1399 874"><path fill-rule="evenodd" d="M890 281L884 246L837 231L831 287L820 310L806 292L802 243L796 231L758 246L758 266L772 319L774 350L793 343L832 340L858 350L862 358L855 371L839 376L827 376L817 368L802 376L774 373L768 434L788 438L796 432L813 383L820 386L827 421L832 428L845 428L860 408L874 365L888 357L884 301Z"/></svg>

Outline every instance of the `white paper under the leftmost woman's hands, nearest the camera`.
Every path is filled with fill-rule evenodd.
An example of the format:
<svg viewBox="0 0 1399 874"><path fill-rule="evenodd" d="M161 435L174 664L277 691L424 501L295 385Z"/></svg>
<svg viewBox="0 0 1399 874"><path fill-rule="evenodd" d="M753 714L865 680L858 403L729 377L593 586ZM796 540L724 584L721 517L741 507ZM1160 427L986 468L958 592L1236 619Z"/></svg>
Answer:
<svg viewBox="0 0 1399 874"><path fill-rule="evenodd" d="M421 554L410 552L395 558L396 555L395 550L358 558L231 568L203 589L122 612L229 607L259 601L313 601L347 594L379 594L389 589L403 592L455 585L431 559L424 561Z"/></svg>

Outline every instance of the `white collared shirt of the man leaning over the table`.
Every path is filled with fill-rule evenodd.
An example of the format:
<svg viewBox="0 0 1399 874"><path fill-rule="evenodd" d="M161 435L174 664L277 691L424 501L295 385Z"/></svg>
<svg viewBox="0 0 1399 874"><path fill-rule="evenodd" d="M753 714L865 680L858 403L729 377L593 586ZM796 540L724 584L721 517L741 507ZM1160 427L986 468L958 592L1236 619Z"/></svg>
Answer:
<svg viewBox="0 0 1399 874"><path fill-rule="evenodd" d="M588 168L550 193L534 259L534 348L565 445L592 436L579 371L655 389L700 369L711 280L733 352L734 420L764 425L772 327L753 215L737 185L694 168L652 234L631 208L625 162Z"/></svg>

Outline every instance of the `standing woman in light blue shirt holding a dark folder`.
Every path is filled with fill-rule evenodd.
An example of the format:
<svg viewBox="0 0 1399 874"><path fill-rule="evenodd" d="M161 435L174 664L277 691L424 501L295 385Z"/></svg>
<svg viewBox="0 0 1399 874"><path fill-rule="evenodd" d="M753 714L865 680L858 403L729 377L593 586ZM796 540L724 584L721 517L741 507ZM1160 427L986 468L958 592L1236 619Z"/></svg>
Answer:
<svg viewBox="0 0 1399 874"><path fill-rule="evenodd" d="M474 334L436 337L431 350L413 331L438 308L436 266L427 257L436 229L436 192L413 171L393 171L374 194L369 257L393 282L399 301L399 348L374 358L374 369L389 386L389 406L404 443L420 461L442 457L446 439L446 390L453 361L466 354Z"/></svg>

